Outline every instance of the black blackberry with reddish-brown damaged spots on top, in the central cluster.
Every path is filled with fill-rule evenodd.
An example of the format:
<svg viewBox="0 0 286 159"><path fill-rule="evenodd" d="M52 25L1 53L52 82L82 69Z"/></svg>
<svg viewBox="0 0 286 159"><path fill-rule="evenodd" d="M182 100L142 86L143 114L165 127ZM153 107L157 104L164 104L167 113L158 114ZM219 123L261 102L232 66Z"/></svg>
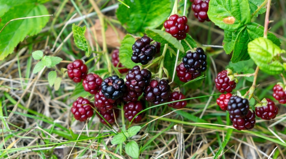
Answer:
<svg viewBox="0 0 286 159"><path fill-rule="evenodd" d="M113 75L104 79L101 83L101 92L107 99L116 100L123 96L126 91L124 80L118 75Z"/></svg>

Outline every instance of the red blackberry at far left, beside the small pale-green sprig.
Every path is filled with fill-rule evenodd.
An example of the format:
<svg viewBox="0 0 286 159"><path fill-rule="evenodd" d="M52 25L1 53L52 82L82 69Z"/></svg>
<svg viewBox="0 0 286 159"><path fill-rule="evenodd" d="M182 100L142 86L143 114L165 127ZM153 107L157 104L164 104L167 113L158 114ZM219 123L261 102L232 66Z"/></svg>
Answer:
<svg viewBox="0 0 286 159"><path fill-rule="evenodd" d="M82 82L82 79L86 78L87 73L88 67L80 59L76 59L67 65L67 75L76 83Z"/></svg>

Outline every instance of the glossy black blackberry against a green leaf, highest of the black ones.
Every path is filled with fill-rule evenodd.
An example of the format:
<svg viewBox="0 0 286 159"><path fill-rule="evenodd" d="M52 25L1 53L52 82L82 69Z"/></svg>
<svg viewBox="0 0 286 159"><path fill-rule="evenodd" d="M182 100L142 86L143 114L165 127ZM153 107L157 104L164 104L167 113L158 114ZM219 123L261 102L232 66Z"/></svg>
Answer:
<svg viewBox="0 0 286 159"><path fill-rule="evenodd" d="M146 65L152 60L153 55L156 53L156 47L150 45L151 39L148 36L143 36L141 39L137 39L132 45L132 57L131 60L135 63L141 63Z"/></svg>

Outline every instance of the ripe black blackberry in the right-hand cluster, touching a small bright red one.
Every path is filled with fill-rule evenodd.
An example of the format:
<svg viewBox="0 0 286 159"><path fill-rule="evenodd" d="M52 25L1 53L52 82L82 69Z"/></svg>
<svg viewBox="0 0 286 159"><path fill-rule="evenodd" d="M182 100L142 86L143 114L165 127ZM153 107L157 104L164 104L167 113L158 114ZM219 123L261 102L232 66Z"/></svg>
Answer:
<svg viewBox="0 0 286 159"><path fill-rule="evenodd" d="M249 101L239 96L231 96L227 105L229 115L234 118L244 118L249 110Z"/></svg>

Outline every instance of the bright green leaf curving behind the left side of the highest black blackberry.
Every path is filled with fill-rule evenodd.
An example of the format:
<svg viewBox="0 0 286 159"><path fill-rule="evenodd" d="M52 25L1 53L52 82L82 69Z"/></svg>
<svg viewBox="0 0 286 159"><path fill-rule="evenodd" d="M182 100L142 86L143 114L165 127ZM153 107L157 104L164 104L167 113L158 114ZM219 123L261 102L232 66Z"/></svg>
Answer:
<svg viewBox="0 0 286 159"><path fill-rule="evenodd" d="M132 45L135 42L135 38L132 35L125 35L121 41L119 48L119 60L126 68L133 68L135 65L141 65L140 63L134 63L131 60L132 57Z"/></svg>

